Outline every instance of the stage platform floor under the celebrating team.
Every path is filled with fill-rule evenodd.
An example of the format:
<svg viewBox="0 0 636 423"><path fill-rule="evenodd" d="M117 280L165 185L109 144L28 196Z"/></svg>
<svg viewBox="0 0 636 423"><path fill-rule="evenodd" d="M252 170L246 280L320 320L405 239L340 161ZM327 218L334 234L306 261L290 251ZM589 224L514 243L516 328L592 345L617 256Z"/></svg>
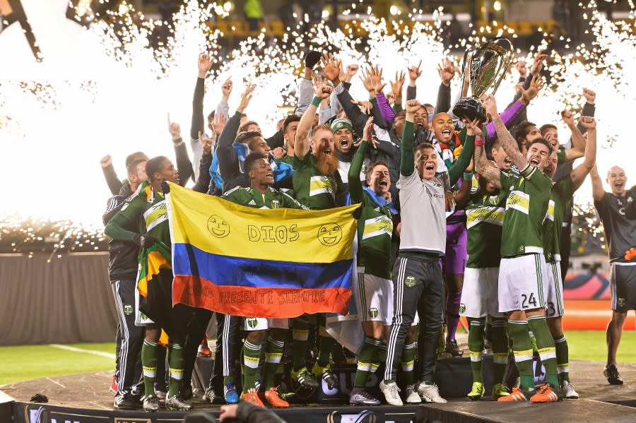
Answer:
<svg viewBox="0 0 636 423"><path fill-rule="evenodd" d="M636 364L622 364L619 369L625 384L610 386L603 378L603 364L570 363L575 371L573 383L580 400L535 405L530 403L496 403L483 400L471 403L454 398L445 405L390 407L351 407L338 405L303 405L276 410L287 422L636 422ZM108 386L111 372L57 376L0 386L0 422L14 423L158 423L180 422L188 413L121 411L112 407ZM48 403L29 403L35 393L42 393ZM197 412L211 412L218 417L219 407L194 398ZM365 416L364 410L368 410Z"/></svg>

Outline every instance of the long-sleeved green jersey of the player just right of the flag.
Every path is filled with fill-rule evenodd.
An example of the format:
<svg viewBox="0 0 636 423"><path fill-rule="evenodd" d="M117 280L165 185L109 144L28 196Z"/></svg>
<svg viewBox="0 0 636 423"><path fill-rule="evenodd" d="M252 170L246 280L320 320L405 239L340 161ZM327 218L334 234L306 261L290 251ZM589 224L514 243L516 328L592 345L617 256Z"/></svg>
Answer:
<svg viewBox="0 0 636 423"><path fill-rule="evenodd" d="M351 203L361 203L358 219L358 266L365 273L391 279L391 236L393 218L387 201L360 182L367 142L363 141L353 155L348 172ZM375 198L375 199L374 199Z"/></svg>

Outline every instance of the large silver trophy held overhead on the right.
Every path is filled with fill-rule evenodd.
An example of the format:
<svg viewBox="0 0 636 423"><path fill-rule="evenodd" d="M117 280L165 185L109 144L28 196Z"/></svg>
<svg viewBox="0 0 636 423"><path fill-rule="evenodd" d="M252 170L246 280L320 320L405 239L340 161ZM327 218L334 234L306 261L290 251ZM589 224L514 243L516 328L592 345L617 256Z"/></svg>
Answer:
<svg viewBox="0 0 636 423"><path fill-rule="evenodd" d="M482 122L488 119L479 99L482 95L495 94L510 67L512 50L512 43L504 37L493 38L466 50L461 73L461 96L453 107L455 116Z"/></svg>

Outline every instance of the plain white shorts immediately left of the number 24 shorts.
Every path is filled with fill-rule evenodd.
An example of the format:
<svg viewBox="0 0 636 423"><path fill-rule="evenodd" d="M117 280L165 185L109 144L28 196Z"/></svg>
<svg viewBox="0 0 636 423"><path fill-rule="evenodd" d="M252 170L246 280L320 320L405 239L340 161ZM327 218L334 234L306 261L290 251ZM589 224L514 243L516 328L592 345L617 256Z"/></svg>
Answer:
<svg viewBox="0 0 636 423"><path fill-rule="evenodd" d="M459 314L466 317L505 317L499 312L499 268L466 268Z"/></svg>

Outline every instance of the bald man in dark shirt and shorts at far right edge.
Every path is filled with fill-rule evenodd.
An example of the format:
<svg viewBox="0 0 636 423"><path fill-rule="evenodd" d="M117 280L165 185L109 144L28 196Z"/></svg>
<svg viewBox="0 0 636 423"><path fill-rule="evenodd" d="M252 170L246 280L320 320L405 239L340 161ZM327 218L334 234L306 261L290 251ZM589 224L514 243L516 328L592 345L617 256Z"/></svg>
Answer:
<svg viewBox="0 0 636 423"><path fill-rule="evenodd" d="M622 385L616 368L616 351L623 335L628 310L636 309L636 264L625 259L625 251L636 246L636 220L625 216L625 208L636 201L636 186L625 190L625 170L610 167L606 182L611 192L603 189L599 171L590 172L594 207L603 222L611 264L612 320L607 326L607 364L603 374L611 385Z"/></svg>

